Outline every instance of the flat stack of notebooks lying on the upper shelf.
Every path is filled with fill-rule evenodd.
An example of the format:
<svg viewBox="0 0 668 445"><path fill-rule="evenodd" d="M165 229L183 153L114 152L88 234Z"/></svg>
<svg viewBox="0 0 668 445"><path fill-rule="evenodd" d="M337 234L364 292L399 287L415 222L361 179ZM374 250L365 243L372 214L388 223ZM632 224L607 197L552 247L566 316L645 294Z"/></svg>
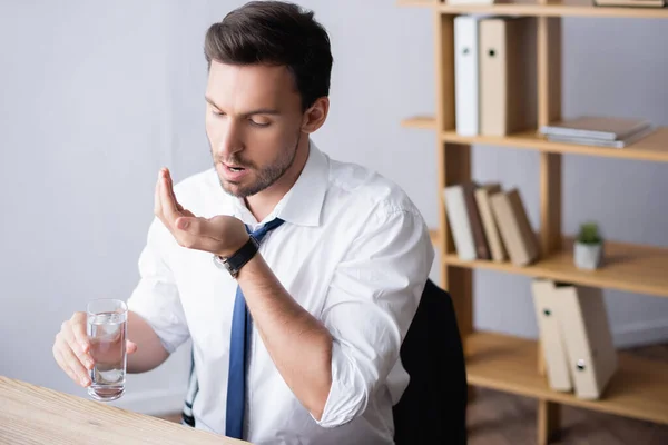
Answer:
<svg viewBox="0 0 668 445"><path fill-rule="evenodd" d="M554 142L623 148L650 135L655 129L645 119L581 116L542 126L540 132Z"/></svg>

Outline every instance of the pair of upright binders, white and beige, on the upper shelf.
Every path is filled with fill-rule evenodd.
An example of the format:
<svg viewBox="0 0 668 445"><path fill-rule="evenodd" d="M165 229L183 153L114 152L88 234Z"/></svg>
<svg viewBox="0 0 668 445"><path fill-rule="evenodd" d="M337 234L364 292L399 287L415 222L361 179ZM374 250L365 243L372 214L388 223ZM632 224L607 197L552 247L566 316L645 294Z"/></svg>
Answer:
<svg viewBox="0 0 668 445"><path fill-rule="evenodd" d="M536 128L536 20L528 17L454 18L459 135L505 136Z"/></svg>

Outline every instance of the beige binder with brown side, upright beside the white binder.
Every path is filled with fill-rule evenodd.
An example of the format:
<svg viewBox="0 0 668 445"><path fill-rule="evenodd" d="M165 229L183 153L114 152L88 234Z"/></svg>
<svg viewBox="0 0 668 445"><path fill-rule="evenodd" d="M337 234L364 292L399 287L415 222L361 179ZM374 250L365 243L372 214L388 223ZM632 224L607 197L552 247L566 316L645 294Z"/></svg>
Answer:
<svg viewBox="0 0 668 445"><path fill-rule="evenodd" d="M480 134L505 136L536 128L536 20L480 21Z"/></svg>

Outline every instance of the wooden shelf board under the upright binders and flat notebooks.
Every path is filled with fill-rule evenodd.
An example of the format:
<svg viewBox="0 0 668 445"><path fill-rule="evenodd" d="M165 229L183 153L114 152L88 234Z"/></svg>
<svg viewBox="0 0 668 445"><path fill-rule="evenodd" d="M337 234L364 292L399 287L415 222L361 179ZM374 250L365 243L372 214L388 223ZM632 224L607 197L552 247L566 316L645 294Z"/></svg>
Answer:
<svg viewBox="0 0 668 445"><path fill-rule="evenodd" d="M513 147L530 150L603 156L668 162L668 127L658 127L655 132L625 148L584 146L578 144L551 142L538 131L523 131L510 136L460 136L454 131L445 131L443 140L456 144L475 144L499 147Z"/></svg>

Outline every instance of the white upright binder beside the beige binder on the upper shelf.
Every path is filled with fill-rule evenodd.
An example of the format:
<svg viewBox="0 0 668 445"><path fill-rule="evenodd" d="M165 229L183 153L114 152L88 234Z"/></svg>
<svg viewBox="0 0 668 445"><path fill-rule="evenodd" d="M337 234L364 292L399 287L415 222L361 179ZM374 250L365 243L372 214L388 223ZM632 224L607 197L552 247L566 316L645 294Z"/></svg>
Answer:
<svg viewBox="0 0 668 445"><path fill-rule="evenodd" d="M454 118L462 136L479 134L478 22L475 16L454 18Z"/></svg>

